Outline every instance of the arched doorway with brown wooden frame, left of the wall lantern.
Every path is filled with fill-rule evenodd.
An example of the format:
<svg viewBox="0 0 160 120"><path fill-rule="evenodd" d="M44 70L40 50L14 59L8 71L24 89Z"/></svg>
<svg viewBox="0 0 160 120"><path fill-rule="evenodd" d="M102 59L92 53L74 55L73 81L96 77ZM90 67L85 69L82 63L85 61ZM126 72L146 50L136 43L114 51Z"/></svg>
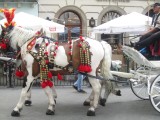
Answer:
<svg viewBox="0 0 160 120"><path fill-rule="evenodd" d="M58 39L61 42L76 39L82 35L82 22L79 15L74 11L65 11L59 16L58 23L65 25L65 33L60 33Z"/></svg>

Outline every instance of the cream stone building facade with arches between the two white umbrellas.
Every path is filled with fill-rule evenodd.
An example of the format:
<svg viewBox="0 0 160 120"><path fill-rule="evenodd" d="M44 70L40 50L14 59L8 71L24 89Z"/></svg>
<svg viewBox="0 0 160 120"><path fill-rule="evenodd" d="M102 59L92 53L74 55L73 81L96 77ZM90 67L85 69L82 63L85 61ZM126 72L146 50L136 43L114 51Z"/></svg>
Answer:
<svg viewBox="0 0 160 120"><path fill-rule="evenodd" d="M65 24L66 37L63 39L74 38L75 34L88 36L94 26L89 24L91 19L98 26L130 12L147 14L155 2L158 0L38 0L40 17ZM120 36L100 35L98 39L106 37Z"/></svg>

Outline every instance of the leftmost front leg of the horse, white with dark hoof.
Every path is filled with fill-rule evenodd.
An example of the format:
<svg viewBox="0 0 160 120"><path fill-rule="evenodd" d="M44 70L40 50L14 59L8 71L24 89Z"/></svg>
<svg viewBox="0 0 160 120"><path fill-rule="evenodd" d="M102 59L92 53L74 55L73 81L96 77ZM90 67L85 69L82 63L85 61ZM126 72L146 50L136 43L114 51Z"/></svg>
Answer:
<svg viewBox="0 0 160 120"><path fill-rule="evenodd" d="M23 84L23 88L21 91L21 95L20 95L20 99L18 104L16 105L16 107L13 109L11 115L12 116L20 116L20 111L22 110L27 92L29 92L31 86L32 86L32 82L34 80L33 76L31 75L32 69L28 69L28 76L27 76L27 81L25 84Z"/></svg>

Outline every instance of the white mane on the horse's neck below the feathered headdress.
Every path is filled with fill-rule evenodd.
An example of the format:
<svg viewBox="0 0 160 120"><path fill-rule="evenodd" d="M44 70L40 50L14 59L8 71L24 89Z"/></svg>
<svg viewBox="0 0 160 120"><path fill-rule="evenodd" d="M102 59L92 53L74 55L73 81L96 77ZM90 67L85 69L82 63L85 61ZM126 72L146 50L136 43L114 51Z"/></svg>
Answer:
<svg viewBox="0 0 160 120"><path fill-rule="evenodd" d="M35 31L27 30L21 27L13 27L9 33L10 45L13 49L17 49L17 45L22 47L29 39L35 35Z"/></svg>

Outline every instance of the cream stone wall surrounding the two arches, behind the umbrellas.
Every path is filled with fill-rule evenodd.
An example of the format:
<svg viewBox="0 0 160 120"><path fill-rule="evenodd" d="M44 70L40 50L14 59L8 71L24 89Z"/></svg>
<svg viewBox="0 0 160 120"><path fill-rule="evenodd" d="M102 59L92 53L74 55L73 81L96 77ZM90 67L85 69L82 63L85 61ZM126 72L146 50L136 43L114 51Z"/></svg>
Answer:
<svg viewBox="0 0 160 120"><path fill-rule="evenodd" d="M113 2L112 2L113 1ZM109 10L118 11L121 14L130 12L144 13L148 6L154 3L153 0L126 0L129 2L116 2L117 0L39 0L39 16L49 17L57 21L59 15L66 9L71 9L80 14L83 20L83 35L88 35L89 19L93 17L96 20L96 26L101 24L104 13ZM125 1L125 0L119 0Z"/></svg>

